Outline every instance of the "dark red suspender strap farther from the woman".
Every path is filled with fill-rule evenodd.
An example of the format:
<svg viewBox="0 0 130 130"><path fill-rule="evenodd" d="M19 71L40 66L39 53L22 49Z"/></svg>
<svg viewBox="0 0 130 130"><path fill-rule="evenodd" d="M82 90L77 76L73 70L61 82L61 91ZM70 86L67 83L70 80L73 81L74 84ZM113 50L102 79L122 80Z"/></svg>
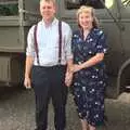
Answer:
<svg viewBox="0 0 130 130"><path fill-rule="evenodd" d="M37 56L37 63L38 65L40 64L39 63L39 50L38 50L38 42L37 42L37 28L38 28L38 25L35 25L35 30L34 30L34 40L35 40L35 51L36 51L36 56Z"/></svg>

